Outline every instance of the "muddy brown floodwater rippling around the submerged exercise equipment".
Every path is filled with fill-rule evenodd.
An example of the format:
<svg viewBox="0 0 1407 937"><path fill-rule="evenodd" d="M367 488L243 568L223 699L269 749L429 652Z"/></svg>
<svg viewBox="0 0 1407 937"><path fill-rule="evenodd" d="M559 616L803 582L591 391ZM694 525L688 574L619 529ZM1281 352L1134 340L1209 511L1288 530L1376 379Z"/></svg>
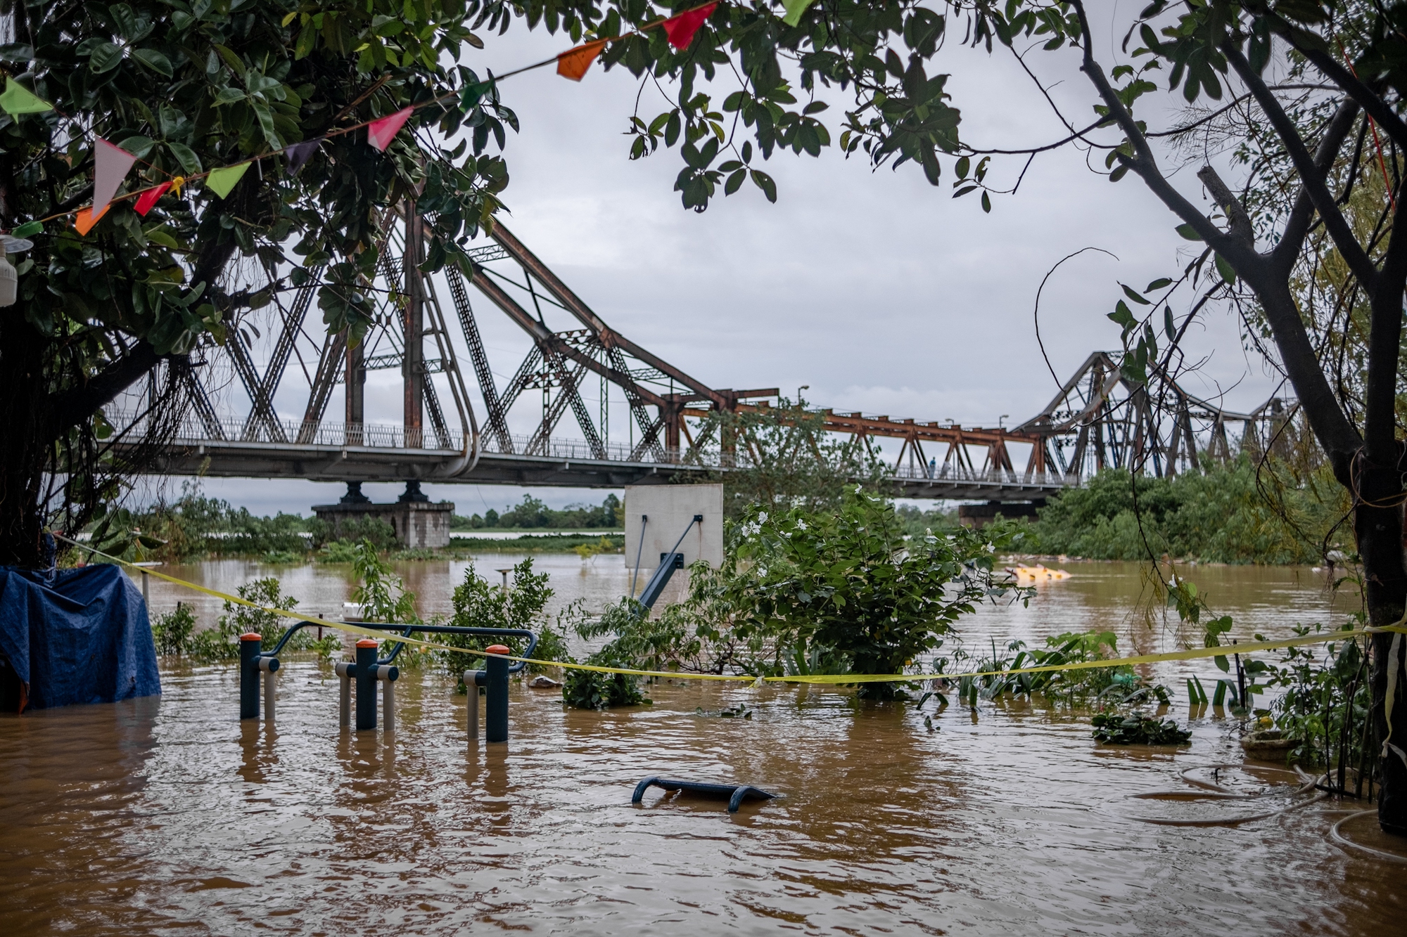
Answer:
<svg viewBox="0 0 1407 937"><path fill-rule="evenodd" d="M480 557L494 568L518 557ZM622 557L542 557L557 602L625 591ZM449 609L464 564L402 567L421 612ZM1172 647L1140 608L1137 566L1071 564L1030 608L983 609L968 644L1100 627L1120 650ZM208 563L218 588L274 574L307 611L348 598L346 570ZM1237 635L1338 623L1324 574L1200 567ZM156 611L189 595L151 584ZM203 622L215 604L194 602ZM1182 703L1185 675L1151 675ZM280 674L276 725L241 723L231 667L163 664L163 694L0 716L6 934L1363 934L1407 933L1407 865L1335 844L1362 809L1310 801L1249 765L1228 720L1179 748L1114 748L1088 716L981 702L933 715L847 689L667 682L654 705L564 710L515 685L511 740L469 743L464 698L408 671L398 723L338 729L326 668ZM750 719L722 718L746 706ZM924 725L931 716L933 730ZM1220 764L1241 767L1217 768ZM782 796L729 816L647 775ZM1216 784L1251 801L1186 799ZM1171 792L1175 796L1138 798ZM1147 820L1228 819L1240 826ZM1352 840L1383 848L1370 819Z"/></svg>

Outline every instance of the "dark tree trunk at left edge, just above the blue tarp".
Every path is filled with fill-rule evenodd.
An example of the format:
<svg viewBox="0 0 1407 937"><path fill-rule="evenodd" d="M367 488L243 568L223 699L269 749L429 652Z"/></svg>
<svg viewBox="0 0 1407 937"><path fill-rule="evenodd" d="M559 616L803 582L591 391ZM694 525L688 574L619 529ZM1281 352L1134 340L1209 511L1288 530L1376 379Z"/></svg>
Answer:
<svg viewBox="0 0 1407 937"><path fill-rule="evenodd" d="M0 564L38 567L52 397L45 363L49 339L17 304L0 310Z"/></svg>

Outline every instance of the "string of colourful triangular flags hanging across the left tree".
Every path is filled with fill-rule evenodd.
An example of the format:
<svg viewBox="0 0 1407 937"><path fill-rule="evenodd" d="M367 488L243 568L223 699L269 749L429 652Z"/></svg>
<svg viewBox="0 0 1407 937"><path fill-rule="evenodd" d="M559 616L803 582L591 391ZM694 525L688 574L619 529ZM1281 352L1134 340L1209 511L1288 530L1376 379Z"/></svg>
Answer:
<svg viewBox="0 0 1407 937"><path fill-rule="evenodd" d="M787 15L782 21L788 25L796 25L801 21L801 15L806 8L815 3L815 0L784 0L784 7L787 8ZM411 107L402 107L401 110L387 114L386 117L378 117L370 121L363 121L352 127L343 127L333 131L328 131L322 136L310 141L301 141L297 144L288 144L287 146L276 151L270 151L260 156L246 159L231 166L221 166L218 169L211 169L204 173L196 173L191 176L172 176L166 181L159 181L151 186L135 189L132 191L117 194L117 190L122 186L122 180L127 179L127 173L131 172L132 166L138 162L134 153L110 144L108 141L94 136L93 145L93 204L73 211L58 212L49 215L48 218L39 218L35 221L25 222L17 227L13 236L25 238L39 234L44 229L44 224L53 221L56 218L65 218L73 215L73 227L80 235L87 235L103 215L107 214L115 201L125 201L128 198L135 198L132 210L145 217L158 201L169 191L174 196L180 196L180 190L184 184L194 181L197 179L204 180L204 186L208 191L215 193L218 197L225 198L234 190L234 187L243 179L243 174L249 170L249 166L273 156L283 156L286 160L286 170L288 174L295 174L305 162L318 151L322 142L329 136L340 136L345 134L352 134L362 128L366 128L367 142L380 152L386 152L386 148L391 145L395 135L405 127L411 114L421 107L431 107L435 104L443 104L445 101L459 97L460 107L469 110L474 107L485 94L488 94L492 87L502 82L504 79L512 77L515 75L522 75L523 72L530 72L533 69L543 68L546 65L557 65L557 75L571 79L573 82L580 82L585 77L587 70L591 63L597 60L601 51L609 42L616 42L632 35L643 34L646 30L653 30L656 27L664 30L666 37L677 49L685 49L694 41L695 34L704 25L704 23L713 14L719 6L719 0L712 3L705 3L682 13L677 13L673 17L656 20L649 23L639 30L632 30L616 37L606 37L599 39L592 39L584 45L574 46L552 56L550 59L543 59L542 62L535 62L532 65L505 72L497 77L490 73L487 82L478 82L476 84L469 84L459 91L452 91L449 94L442 94L429 101L422 101ZM53 106L44 98L38 97L34 91L28 90L13 77L6 76L4 91L0 93L0 110L4 110L11 117L20 117L23 114L42 114L55 110ZM159 170L165 172L165 170Z"/></svg>

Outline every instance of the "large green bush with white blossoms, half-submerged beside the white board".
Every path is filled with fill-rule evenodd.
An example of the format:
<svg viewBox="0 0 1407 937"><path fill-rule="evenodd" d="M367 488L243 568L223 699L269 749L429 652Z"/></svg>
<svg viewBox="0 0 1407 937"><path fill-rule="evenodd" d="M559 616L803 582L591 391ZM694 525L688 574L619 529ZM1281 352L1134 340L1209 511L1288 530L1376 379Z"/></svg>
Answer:
<svg viewBox="0 0 1407 937"><path fill-rule="evenodd" d="M654 618L632 599L577 623L582 640L609 637L588 663L680 673L941 673L954 623L982 601L1030 591L995 568L1020 544L1014 525L906 537L893 506L860 485L839 505L751 504L726 522L718 570L689 568L685 601ZM609 663L608 663L609 661ZM629 680L626 681L630 682ZM905 681L908 682L908 681ZM570 673L571 701L628 696ZM858 695L895 699L903 687L860 684Z"/></svg>

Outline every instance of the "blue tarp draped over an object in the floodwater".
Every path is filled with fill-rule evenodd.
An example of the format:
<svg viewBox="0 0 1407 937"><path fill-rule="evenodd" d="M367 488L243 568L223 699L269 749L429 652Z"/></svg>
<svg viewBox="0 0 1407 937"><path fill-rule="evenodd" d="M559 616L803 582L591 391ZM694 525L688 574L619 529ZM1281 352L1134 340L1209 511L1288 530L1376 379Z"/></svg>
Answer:
<svg viewBox="0 0 1407 937"><path fill-rule="evenodd" d="M25 685L28 706L162 692L146 602L117 566L0 566L0 654Z"/></svg>

